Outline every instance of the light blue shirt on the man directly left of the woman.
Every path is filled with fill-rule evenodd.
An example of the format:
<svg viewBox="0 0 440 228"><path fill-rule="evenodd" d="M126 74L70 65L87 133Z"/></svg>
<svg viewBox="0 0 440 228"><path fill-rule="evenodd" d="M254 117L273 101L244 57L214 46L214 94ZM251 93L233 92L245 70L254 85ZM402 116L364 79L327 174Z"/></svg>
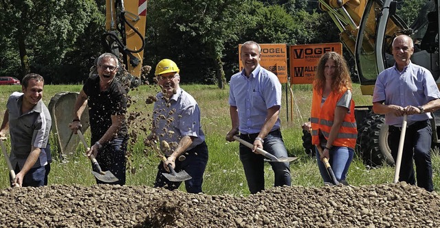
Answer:
<svg viewBox="0 0 440 228"><path fill-rule="evenodd" d="M239 112L239 130L241 134L256 134L267 116L267 109L281 108L281 83L274 73L260 65L245 76L245 71L232 75L230 80L229 105L237 107ZM280 118L271 131L279 129Z"/></svg>

